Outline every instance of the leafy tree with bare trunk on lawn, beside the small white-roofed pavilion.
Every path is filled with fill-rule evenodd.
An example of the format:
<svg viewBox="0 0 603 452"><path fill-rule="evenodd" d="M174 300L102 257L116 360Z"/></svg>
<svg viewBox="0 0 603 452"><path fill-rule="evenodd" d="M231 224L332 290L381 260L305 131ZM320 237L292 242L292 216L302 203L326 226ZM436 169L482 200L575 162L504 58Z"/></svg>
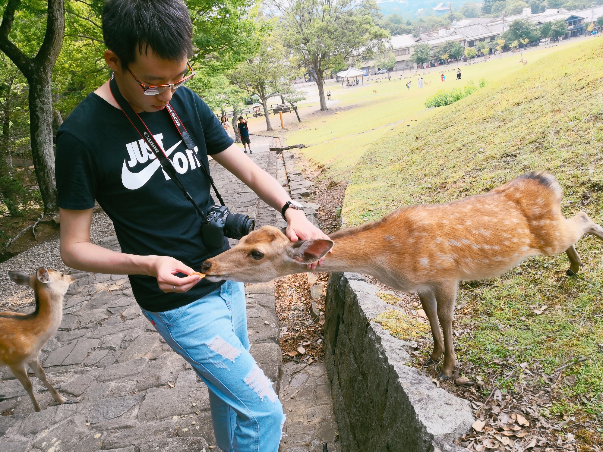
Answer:
<svg viewBox="0 0 603 452"><path fill-rule="evenodd" d="M373 0L273 0L272 8L285 46L317 83L321 110L327 110L326 71L384 51L384 38L390 36L374 22L379 10Z"/></svg>

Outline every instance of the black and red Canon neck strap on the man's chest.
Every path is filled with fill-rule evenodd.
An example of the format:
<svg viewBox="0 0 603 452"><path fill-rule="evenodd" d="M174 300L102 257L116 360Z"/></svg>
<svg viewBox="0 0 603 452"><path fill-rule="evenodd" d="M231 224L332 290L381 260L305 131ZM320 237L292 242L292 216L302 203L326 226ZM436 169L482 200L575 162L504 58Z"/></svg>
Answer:
<svg viewBox="0 0 603 452"><path fill-rule="evenodd" d="M126 118L128 118L128 121L130 121L130 124L133 125L134 129L136 129L136 131L140 134L142 139L145 140L148 147L151 149L151 152L153 152L155 157L157 157L157 160L159 160L159 163L161 164L163 171L165 171L166 174L169 175L169 177L174 181L174 183L176 184L178 189L180 189L180 191L185 196L185 198L188 199L189 202L191 202L192 206L195 208L197 213L201 216L202 221L207 222L207 219L205 218L203 211L198 206L197 202L195 202L195 200L189 194L189 192L186 190L185 186L182 184L182 181L180 181L180 178L178 178L176 169L174 168L174 165L172 164L171 160L168 159L168 156L165 154L165 151L163 150L163 148L161 146L159 146L159 144L156 142L156 140L153 137L153 134L151 134L151 131L148 130L147 125L145 124L144 121L142 121L142 118L140 118L138 113L136 113L136 111L134 111L134 108L132 108L132 106L130 105L130 102L128 102L124 98L124 96L122 96L121 92L119 92L119 87L117 86L117 82L115 81L115 77L113 76L113 74L111 75L111 80L109 81L109 87L111 89L113 98L115 98L115 101L118 103L119 107L121 107L121 111L124 112L124 115ZM169 117L172 118L172 121L174 122L174 125L175 125L176 129L178 130L178 133L180 133L182 140L185 142L186 148L191 149L191 151L194 151L195 143L192 141L190 134L188 133L188 131L186 131L186 128L182 124L182 121L178 117L174 108L172 108L172 106L168 103L166 105L166 110L168 110ZM218 193L218 190L216 189L216 185L213 182L213 179L209 174L209 170L207 168L205 168L205 165L202 160L200 160L199 163L200 163L201 169L203 170L203 172L209 179L210 184L212 184L213 191L216 193L216 196L218 196L220 204L222 206L224 206L224 201L222 199L222 196L220 196L220 194Z"/></svg>

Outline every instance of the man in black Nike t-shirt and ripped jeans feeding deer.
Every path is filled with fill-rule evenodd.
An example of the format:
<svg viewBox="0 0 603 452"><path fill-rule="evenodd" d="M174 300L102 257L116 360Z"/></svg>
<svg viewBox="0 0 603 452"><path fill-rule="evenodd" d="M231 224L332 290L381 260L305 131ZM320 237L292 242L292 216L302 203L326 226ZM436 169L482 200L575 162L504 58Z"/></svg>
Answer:
<svg viewBox="0 0 603 452"><path fill-rule="evenodd" d="M144 315L209 388L221 450L276 452L285 418L270 380L248 353L243 285L191 275L207 257L227 250L228 241L206 248L200 215L160 169L116 98L130 103L205 213L213 199L201 165L207 168L211 154L282 209L289 239L326 236L290 204L276 180L241 154L210 108L182 87L191 77L192 25L181 0L109 0L103 35L115 89L107 81L90 93L57 133L63 261L84 271L130 275ZM193 149L166 111L168 102ZM95 199L112 219L122 253L90 243Z"/></svg>

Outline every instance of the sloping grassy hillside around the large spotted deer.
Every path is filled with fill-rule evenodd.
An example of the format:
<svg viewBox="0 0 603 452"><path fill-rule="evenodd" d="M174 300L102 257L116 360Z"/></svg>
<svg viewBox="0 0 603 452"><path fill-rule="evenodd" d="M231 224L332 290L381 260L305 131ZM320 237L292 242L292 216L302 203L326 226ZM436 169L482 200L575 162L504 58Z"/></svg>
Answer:
<svg viewBox="0 0 603 452"><path fill-rule="evenodd" d="M346 192L346 226L400 205L483 193L537 169L560 181L566 216L584 210L603 224L602 39L562 49L429 113L370 145ZM570 430L578 429L581 444L601 444L603 242L584 237L576 248L585 263L577 277L564 274L569 263L562 254L464 284L455 328L471 334L461 335L456 347L458 359L486 381L520 363L535 366L534 379L512 377L504 392L521 401L524 382L526 388L543 385L538 397L544 401L528 403L545 416L573 415ZM543 305L545 311L534 312ZM555 385L541 379L578 358L586 360L564 369ZM585 420L599 430L582 428Z"/></svg>

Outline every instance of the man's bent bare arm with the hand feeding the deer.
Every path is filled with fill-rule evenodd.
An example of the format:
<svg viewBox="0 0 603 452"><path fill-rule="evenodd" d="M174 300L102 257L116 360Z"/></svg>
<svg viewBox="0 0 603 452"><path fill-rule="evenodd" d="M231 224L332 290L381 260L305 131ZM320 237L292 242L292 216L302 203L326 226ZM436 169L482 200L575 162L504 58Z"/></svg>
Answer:
<svg viewBox="0 0 603 452"><path fill-rule="evenodd" d="M92 209L60 209L61 257L71 268L107 274L148 275L157 278L163 292L186 292L198 283L197 275L180 278L175 273L189 275L194 269L169 256L136 256L116 253L90 243Z"/></svg>

